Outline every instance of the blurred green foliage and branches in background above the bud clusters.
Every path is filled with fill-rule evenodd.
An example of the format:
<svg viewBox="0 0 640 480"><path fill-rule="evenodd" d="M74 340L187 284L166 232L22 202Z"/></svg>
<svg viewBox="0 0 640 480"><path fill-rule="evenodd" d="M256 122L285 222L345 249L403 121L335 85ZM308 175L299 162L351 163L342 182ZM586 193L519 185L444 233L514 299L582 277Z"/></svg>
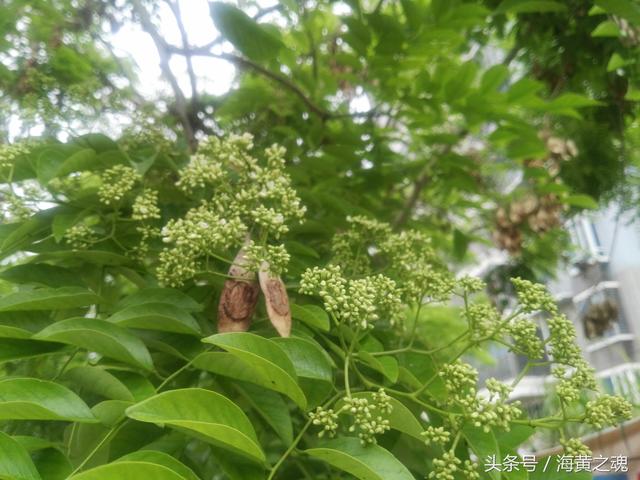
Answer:
<svg viewBox="0 0 640 480"><path fill-rule="evenodd" d="M172 0L5 0L5 140L34 127L50 138L100 132L107 115L120 129L155 124L185 153L207 135L251 132L288 149L311 213L297 241L326 253L346 215L371 215L427 230L450 263L508 252L492 272L498 290L514 273L552 274L572 213L637 209L636 2L238 6L211 3L218 32L194 45ZM163 8L181 43L163 35ZM110 44L131 24L155 44L168 87L159 98L140 93L134 63ZM235 66L226 93L202 87L199 57Z"/></svg>

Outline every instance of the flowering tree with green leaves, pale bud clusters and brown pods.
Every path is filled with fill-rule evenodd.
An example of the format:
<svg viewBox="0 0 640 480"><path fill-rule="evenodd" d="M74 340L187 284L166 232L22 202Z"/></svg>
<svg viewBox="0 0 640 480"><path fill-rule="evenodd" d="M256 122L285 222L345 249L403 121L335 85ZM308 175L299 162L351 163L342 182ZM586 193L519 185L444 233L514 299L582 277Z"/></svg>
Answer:
<svg viewBox="0 0 640 480"><path fill-rule="evenodd" d="M459 55L498 38L478 30L488 16L566 14L526 3L351 2L340 16L330 2L283 2L282 31L214 3L235 53L168 44L137 1L87 3L103 8L86 16L86 35L51 29L84 48L113 9L135 15L175 105L119 138L45 135L0 151L0 477L536 479L482 468L536 429L587 455L565 427L614 425L631 407L598 392L573 324L539 284L510 280L517 302L504 308L450 268L494 237L524 271L543 270L562 215L593 203L567 183L580 145L563 135L599 103L546 96L539 82L510 82L505 65ZM10 5L28 26L48 25L49 5ZM194 88L187 100L167 56L199 53L246 68L238 88L215 101ZM70 78L38 55L25 71L49 83L30 92L31 113L57 134L76 111L39 107L54 93L82 103L69 83L109 77ZM368 111L348 108L358 86ZM507 173L522 181L505 192ZM458 317L460 331L425 335L441 304L455 306L447 329ZM495 342L527 363L509 383L480 384L468 355ZM538 365L552 367L558 403L544 417L509 401Z"/></svg>

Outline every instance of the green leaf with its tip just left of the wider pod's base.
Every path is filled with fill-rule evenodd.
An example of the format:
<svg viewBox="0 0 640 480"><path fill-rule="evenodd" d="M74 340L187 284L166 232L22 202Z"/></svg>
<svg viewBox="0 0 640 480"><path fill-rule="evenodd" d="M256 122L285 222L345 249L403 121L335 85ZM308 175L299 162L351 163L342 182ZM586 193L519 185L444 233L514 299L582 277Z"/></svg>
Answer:
<svg viewBox="0 0 640 480"><path fill-rule="evenodd" d="M197 336L200 336L201 333L195 318L170 303L132 305L113 314L107 320L124 327Z"/></svg>

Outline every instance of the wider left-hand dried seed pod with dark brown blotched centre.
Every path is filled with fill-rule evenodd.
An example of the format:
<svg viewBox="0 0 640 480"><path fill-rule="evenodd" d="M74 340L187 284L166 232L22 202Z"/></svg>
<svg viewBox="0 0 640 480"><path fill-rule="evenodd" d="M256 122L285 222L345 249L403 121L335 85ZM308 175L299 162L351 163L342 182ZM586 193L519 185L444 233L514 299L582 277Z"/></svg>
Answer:
<svg viewBox="0 0 640 480"><path fill-rule="evenodd" d="M246 332L251 326L253 312L258 304L260 287L256 274L247 270L244 248L241 248L229 268L234 277L224 282L218 303L218 332Z"/></svg>

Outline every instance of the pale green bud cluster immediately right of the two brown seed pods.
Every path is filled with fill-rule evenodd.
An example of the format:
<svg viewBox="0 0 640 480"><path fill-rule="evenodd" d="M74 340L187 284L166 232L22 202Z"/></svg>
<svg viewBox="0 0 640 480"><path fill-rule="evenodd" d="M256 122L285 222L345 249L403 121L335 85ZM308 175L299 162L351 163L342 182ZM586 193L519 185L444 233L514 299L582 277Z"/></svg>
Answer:
<svg viewBox="0 0 640 480"><path fill-rule="evenodd" d="M347 280L337 265L306 270L300 279L300 293L320 296L328 312L363 329L372 328L382 316L393 324L402 308L393 280L384 275Z"/></svg>

